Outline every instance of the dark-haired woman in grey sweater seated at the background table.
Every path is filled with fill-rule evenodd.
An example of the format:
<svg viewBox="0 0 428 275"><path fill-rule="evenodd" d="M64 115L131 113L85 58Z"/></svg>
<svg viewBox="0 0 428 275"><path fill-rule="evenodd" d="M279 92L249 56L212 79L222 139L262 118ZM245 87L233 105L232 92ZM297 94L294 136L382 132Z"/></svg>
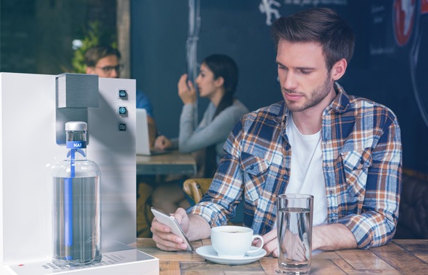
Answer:
<svg viewBox="0 0 428 275"><path fill-rule="evenodd" d="M233 97L238 84L238 66L229 56L213 54L206 57L195 80L199 97L211 102L205 110L204 117L195 128L197 111L197 92L195 85L183 74L178 83L179 97L183 101L181 110L179 138L168 139L158 136L156 149L179 149L183 153L193 153L197 161L197 175L192 177L211 178L217 164L223 156L222 147L233 126L248 109ZM190 203L183 193L183 180L175 179L157 185L153 193L153 206L168 213L176 208L187 208Z"/></svg>

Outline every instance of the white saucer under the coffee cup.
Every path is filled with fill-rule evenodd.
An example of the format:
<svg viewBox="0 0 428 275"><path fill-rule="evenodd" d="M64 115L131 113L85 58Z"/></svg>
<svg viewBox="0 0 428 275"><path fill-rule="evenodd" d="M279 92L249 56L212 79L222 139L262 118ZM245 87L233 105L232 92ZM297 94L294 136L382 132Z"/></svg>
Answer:
<svg viewBox="0 0 428 275"><path fill-rule="evenodd" d="M256 249L257 247L252 247L250 251ZM213 263L220 263L222 265L246 265L249 263L253 263L260 258L263 258L266 255L265 249L260 249L257 252L245 254L245 256L241 258L223 258L217 256L217 252L215 252L211 245L206 245L205 247L198 247L196 249L196 253L204 257L206 260L209 260Z"/></svg>

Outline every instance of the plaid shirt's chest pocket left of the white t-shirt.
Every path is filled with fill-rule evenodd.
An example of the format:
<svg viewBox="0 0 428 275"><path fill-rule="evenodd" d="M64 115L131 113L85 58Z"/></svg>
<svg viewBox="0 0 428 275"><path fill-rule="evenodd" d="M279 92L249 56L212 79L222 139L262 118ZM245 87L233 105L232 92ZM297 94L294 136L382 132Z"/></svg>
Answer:
<svg viewBox="0 0 428 275"><path fill-rule="evenodd" d="M241 168L244 174L245 198L254 202L261 196L269 165L263 158L242 152Z"/></svg>

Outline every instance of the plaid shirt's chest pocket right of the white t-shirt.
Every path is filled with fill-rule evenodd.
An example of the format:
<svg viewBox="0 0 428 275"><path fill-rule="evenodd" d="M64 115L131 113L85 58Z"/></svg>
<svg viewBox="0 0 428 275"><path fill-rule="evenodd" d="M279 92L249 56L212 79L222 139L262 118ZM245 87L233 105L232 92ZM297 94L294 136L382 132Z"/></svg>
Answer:
<svg viewBox="0 0 428 275"><path fill-rule="evenodd" d="M347 151L340 153L340 156L345 172L347 192L352 197L363 197L368 169L372 165L371 149Z"/></svg>

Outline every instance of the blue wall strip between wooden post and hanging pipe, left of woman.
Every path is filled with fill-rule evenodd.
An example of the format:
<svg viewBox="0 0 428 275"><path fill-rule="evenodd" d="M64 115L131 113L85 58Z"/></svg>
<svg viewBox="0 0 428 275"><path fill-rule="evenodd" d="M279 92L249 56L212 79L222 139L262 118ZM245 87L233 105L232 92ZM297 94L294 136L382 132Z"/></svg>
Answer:
<svg viewBox="0 0 428 275"><path fill-rule="evenodd" d="M178 135L177 81L186 72L187 1L131 0L131 78L154 106L158 130Z"/></svg>

